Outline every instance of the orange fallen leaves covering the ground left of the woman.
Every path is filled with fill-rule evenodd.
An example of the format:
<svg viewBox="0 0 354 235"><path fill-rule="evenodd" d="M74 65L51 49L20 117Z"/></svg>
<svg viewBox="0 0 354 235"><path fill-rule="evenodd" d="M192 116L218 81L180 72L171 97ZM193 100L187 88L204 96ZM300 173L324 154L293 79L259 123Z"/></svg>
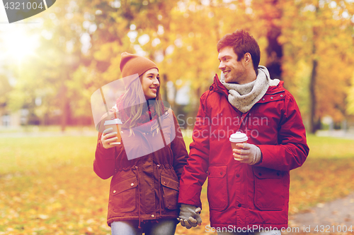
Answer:
<svg viewBox="0 0 354 235"><path fill-rule="evenodd" d="M109 234L108 181L89 167L1 179L0 231L10 234ZM89 171L88 171L89 170ZM25 178L26 183L23 182ZM39 183L41 182L41 183ZM26 193L27 192L27 193ZM15 195L15 196L12 196Z"/></svg>

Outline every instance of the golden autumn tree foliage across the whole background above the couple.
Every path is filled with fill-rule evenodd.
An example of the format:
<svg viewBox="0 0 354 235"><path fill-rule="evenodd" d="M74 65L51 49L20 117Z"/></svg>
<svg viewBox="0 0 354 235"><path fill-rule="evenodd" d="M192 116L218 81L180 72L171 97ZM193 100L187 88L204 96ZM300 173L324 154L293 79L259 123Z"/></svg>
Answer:
<svg viewBox="0 0 354 235"><path fill-rule="evenodd" d="M272 78L285 80L297 97L312 132L325 115L346 116L344 90L353 74L353 4L347 1L57 1L40 17L39 58L23 67L32 69L11 94L42 97L44 106L33 109L61 110L63 129L70 119L91 116L91 94L121 78L122 52L156 62L161 93L171 104L178 90L190 89L183 109L194 115L219 73L218 40L241 28L256 38Z"/></svg>

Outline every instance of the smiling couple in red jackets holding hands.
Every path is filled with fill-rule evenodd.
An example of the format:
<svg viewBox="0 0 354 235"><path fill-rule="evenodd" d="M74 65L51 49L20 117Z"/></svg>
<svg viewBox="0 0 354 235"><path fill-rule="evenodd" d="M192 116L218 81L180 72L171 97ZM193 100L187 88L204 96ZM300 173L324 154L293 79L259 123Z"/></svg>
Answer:
<svg viewBox="0 0 354 235"><path fill-rule="evenodd" d="M126 92L109 111L122 121L122 143L110 145L117 140L112 128L100 131L93 162L99 177L113 176L113 235L170 235L178 222L201 225L206 179L208 231L265 235L287 228L290 170L309 153L301 114L283 82L259 66L260 49L248 32L225 35L217 51L222 73L200 97L189 155L176 116L161 102L156 64L122 53ZM228 137L236 131L249 140L232 149Z"/></svg>

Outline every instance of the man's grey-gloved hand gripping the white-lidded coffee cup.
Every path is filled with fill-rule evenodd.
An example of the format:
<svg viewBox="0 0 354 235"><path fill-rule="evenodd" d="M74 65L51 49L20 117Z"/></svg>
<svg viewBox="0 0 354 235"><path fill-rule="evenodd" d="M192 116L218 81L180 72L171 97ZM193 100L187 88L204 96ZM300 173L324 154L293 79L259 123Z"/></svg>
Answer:
<svg viewBox="0 0 354 235"><path fill-rule="evenodd" d="M234 159L236 161L250 165L261 161L262 152L256 145L249 143L238 143L236 146L241 147L241 150L236 148L232 150L232 154L234 155Z"/></svg>

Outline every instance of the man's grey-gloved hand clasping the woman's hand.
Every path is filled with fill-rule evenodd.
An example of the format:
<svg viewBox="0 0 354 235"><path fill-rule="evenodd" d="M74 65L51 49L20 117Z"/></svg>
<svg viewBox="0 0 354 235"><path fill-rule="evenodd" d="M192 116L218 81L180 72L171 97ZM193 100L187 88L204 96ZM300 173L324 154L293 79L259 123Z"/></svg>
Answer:
<svg viewBox="0 0 354 235"><path fill-rule="evenodd" d="M177 220L181 222L181 225L186 229L191 227L197 227L197 225L202 224L202 219L200 218L200 207L195 207L194 205L181 204L179 217Z"/></svg>

